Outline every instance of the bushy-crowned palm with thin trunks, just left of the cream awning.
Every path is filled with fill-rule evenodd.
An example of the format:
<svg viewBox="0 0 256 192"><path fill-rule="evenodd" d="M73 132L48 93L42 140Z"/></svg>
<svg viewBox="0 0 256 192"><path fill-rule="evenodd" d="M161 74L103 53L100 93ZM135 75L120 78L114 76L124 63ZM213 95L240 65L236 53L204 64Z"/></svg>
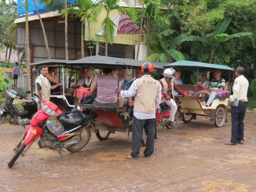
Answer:
<svg viewBox="0 0 256 192"><path fill-rule="evenodd" d="M79 9L77 9L77 7ZM99 17L100 9L97 3L94 3L92 0L77 0L77 4L74 7L70 7L67 10L67 13L70 17L79 17L81 18L81 53L82 58L84 57L84 25L85 21L88 23L88 41L89 41L89 49L90 55L93 54L93 48L91 46L91 38L90 38L90 23L94 23L97 21Z"/></svg>

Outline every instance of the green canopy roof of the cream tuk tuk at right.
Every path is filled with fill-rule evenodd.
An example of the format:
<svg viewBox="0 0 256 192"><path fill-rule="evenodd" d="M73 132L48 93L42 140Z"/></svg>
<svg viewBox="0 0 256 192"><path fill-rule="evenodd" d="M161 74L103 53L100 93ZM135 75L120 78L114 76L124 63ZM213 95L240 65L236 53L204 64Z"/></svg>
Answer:
<svg viewBox="0 0 256 192"><path fill-rule="evenodd" d="M187 60L181 60L174 63L170 63L163 67L164 68L169 68L169 67L180 68L182 70L189 70L189 71L197 71L197 69L199 71L214 71L215 69L234 71L234 69L230 68L229 66L210 64L210 63L201 63L196 61L187 61Z"/></svg>

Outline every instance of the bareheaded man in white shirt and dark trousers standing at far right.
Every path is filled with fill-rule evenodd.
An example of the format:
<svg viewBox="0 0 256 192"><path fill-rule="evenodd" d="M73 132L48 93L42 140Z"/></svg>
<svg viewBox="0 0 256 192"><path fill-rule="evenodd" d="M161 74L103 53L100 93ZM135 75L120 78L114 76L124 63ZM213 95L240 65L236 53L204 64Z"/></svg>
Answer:
<svg viewBox="0 0 256 192"><path fill-rule="evenodd" d="M225 145L236 145L244 144L243 139L243 119L246 112L246 104L247 104L247 91L249 82L243 76L244 68L237 67L236 68L236 79L233 86L233 97L229 103L231 106L231 123L232 123L232 131L231 131L231 140L230 142L225 143ZM234 101L238 99L238 106L234 105Z"/></svg>

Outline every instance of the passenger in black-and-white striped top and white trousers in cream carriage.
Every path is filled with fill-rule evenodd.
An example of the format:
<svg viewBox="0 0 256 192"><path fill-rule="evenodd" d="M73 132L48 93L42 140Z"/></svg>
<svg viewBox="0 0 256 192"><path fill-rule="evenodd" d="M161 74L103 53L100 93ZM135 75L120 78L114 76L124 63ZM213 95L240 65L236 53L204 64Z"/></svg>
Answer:
<svg viewBox="0 0 256 192"><path fill-rule="evenodd" d="M209 93L209 99L205 104L206 106L210 106L217 93L219 91L223 91L225 88L225 80L221 78L222 71L220 69L216 69L213 74L215 79L211 80L208 89L202 90L202 93Z"/></svg>

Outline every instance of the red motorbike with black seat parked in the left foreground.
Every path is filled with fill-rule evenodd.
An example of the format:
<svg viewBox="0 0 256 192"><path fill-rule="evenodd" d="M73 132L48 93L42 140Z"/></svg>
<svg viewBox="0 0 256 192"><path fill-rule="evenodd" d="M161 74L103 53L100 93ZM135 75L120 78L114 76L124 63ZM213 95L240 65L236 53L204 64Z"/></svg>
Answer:
<svg viewBox="0 0 256 192"><path fill-rule="evenodd" d="M41 90L39 84L37 87L38 90ZM30 120L30 125L15 145L13 157L8 163L9 167L13 166L20 155L24 156L34 141L39 138L40 148L55 150L60 154L63 148L69 152L80 151L91 138L91 126L98 116L96 113L79 112L77 109L73 109L66 114L53 102L41 99L36 93L34 95L39 99L41 108ZM59 127L55 128L47 121L50 116L59 117Z"/></svg>

